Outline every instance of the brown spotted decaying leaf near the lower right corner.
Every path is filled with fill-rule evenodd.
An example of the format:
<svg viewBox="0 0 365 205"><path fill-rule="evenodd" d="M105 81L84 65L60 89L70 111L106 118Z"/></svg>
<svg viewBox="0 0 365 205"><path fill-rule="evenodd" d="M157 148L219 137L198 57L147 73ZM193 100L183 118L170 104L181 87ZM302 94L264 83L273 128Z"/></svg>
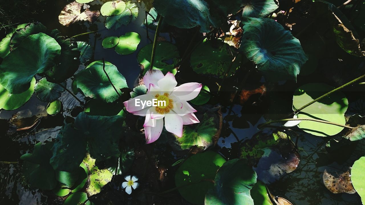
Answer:
<svg viewBox="0 0 365 205"><path fill-rule="evenodd" d="M334 177L334 175L324 170L323 172L323 183L332 193L356 193L354 187L352 186L350 180L350 171L345 171L342 174L339 174L338 177Z"/></svg>

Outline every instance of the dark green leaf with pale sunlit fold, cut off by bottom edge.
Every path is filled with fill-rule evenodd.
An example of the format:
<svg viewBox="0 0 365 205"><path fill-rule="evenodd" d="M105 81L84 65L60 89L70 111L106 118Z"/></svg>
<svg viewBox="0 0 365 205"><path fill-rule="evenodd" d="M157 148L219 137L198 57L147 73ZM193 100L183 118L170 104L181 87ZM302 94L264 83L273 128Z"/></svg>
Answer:
<svg viewBox="0 0 365 205"><path fill-rule="evenodd" d="M205 195L205 205L253 205L250 190L257 175L244 159L232 159L219 168L213 189Z"/></svg>

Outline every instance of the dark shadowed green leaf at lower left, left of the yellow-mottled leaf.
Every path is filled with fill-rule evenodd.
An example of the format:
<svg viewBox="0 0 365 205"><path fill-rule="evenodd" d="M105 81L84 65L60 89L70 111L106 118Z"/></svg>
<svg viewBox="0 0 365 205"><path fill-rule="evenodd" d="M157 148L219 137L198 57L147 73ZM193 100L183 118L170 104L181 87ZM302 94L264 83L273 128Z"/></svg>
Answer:
<svg viewBox="0 0 365 205"><path fill-rule="evenodd" d="M39 188L43 190L54 189L57 185L55 173L49 164L52 156L51 147L53 142L35 144L33 152L23 154L20 159L24 160L23 175L30 183L32 189Z"/></svg>

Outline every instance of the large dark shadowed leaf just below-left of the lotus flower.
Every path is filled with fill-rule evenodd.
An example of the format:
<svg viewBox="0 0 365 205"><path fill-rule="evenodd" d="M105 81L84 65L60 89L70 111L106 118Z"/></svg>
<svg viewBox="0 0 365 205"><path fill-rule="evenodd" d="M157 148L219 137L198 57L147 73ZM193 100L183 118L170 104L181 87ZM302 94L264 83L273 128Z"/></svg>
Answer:
<svg viewBox="0 0 365 205"><path fill-rule="evenodd" d="M91 116L85 112L80 113L74 126L86 136L88 151L98 160L111 156L119 157L119 138L122 134L123 117L116 116Z"/></svg>

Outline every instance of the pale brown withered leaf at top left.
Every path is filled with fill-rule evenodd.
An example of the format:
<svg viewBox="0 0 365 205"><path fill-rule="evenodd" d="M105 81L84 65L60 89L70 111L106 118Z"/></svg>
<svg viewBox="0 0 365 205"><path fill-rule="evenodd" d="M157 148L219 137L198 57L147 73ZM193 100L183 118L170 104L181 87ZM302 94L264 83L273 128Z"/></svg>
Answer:
<svg viewBox="0 0 365 205"><path fill-rule="evenodd" d="M59 23L64 26L69 26L77 21L88 21L92 23L100 16L100 11L90 11L89 8L86 8L85 11L81 13L83 5L84 4L79 4L76 1L67 4L58 16Z"/></svg>

